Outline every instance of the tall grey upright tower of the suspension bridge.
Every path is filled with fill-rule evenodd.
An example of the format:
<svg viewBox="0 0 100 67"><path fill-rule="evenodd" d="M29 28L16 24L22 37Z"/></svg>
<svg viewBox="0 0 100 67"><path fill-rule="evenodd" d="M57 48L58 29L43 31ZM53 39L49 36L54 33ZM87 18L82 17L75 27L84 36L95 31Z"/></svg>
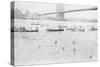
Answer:
<svg viewBox="0 0 100 67"><path fill-rule="evenodd" d="M56 7L56 17L59 20L63 20L64 19L64 5L63 4L57 4Z"/></svg>

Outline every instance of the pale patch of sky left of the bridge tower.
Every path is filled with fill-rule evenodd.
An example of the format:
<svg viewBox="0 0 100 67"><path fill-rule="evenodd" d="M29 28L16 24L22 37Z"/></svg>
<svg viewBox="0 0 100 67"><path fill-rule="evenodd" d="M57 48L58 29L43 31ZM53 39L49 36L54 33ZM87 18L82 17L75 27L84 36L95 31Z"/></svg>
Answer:
<svg viewBox="0 0 100 67"><path fill-rule="evenodd" d="M34 3L34 2L23 2L23 1L16 1L15 8L18 8L22 12L26 10L33 12L33 13L46 13L46 12L55 12L56 4L48 4L48 3Z"/></svg>

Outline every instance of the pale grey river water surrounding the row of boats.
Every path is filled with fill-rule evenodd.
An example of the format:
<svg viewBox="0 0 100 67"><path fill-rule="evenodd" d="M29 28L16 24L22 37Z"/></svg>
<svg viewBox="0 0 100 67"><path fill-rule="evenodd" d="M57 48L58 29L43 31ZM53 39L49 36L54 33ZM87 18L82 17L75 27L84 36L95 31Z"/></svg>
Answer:
<svg viewBox="0 0 100 67"><path fill-rule="evenodd" d="M15 20L15 26L26 26L30 29L32 20ZM35 20L34 22L37 22ZM17 23L18 22L18 23ZM28 23L29 22L29 23ZM41 24L55 25L96 25L96 23L67 21L53 23L41 21ZM48 27L39 27L39 32L14 32L16 65L64 63L97 60L97 31L47 32Z"/></svg>

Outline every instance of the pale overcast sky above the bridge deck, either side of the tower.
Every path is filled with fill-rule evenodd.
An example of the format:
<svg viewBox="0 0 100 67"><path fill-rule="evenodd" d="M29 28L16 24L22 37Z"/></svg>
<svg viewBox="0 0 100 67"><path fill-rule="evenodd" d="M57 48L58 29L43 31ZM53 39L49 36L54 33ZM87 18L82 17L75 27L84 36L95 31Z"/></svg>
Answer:
<svg viewBox="0 0 100 67"><path fill-rule="evenodd" d="M83 6L83 5L64 5L64 10L71 9L83 9L94 6ZM56 4L51 3L38 3L38 2L30 2L30 1L15 1L15 8L20 9L22 12L26 10L30 12L38 12L38 13L48 13L48 12L56 12Z"/></svg>

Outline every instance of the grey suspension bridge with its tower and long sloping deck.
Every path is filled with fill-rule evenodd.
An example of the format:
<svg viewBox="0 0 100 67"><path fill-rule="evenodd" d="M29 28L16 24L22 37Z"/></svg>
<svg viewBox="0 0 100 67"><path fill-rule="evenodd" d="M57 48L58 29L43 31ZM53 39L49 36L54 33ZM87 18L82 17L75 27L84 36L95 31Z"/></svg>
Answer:
<svg viewBox="0 0 100 67"><path fill-rule="evenodd" d="M90 11L90 10L97 10L97 7L88 7L88 8L72 9L72 10L64 11L64 5L63 4L57 4L56 12L43 13L43 14L39 14L39 16L56 14L57 19L64 19L65 13L78 12L78 11Z"/></svg>

